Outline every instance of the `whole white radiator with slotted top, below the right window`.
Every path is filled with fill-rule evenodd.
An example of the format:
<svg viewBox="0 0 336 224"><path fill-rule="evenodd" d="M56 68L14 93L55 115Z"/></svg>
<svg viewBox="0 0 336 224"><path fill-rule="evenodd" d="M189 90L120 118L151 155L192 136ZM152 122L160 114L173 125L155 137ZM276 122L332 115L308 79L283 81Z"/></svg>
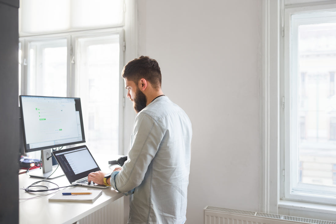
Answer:
<svg viewBox="0 0 336 224"><path fill-rule="evenodd" d="M204 208L204 224L336 224L333 221L276 215L262 212L226 209L213 206Z"/></svg>

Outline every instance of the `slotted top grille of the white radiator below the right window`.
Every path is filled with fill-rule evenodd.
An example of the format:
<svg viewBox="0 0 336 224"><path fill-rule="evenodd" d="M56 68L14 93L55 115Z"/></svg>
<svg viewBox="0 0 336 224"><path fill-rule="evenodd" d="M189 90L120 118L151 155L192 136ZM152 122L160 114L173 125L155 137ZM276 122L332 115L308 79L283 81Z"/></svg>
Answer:
<svg viewBox="0 0 336 224"><path fill-rule="evenodd" d="M277 214L270 214L270 213L263 213L263 212L251 212L251 211L244 211L244 210L237 210L237 209L227 209L227 208L220 208L214 206L207 206L204 210L212 211L212 212L220 212L220 213L229 213L229 214L240 214L240 215L248 215L253 217L261 217L261 218L270 218L279 221L293 221L293 222L301 222L301 223L314 223L314 224L336 224L333 221L325 221L319 219L308 219L308 218L300 218L294 216L286 216L286 215L277 215Z"/></svg>

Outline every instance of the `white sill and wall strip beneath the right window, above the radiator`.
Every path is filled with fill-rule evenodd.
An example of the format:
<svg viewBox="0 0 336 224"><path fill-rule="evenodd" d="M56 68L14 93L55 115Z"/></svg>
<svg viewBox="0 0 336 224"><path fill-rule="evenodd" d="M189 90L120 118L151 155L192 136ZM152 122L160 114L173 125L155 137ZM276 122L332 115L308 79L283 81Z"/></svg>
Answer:
<svg viewBox="0 0 336 224"><path fill-rule="evenodd" d="M311 219L336 221L336 206L280 200L279 214Z"/></svg>

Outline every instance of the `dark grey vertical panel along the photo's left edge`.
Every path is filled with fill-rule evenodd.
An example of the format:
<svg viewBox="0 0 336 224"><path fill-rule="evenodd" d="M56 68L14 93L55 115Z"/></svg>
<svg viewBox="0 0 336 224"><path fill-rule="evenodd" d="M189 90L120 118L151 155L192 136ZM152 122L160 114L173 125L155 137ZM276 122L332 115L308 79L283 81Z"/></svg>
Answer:
<svg viewBox="0 0 336 224"><path fill-rule="evenodd" d="M0 1L0 223L18 223L18 0Z"/></svg>

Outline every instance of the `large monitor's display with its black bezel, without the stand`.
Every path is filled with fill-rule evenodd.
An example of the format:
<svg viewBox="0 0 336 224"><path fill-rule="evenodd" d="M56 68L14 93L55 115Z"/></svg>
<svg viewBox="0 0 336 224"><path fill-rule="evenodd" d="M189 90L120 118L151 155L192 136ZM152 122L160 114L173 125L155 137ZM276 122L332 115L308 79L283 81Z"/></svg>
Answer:
<svg viewBox="0 0 336 224"><path fill-rule="evenodd" d="M85 142L80 98L20 95L26 152Z"/></svg>

